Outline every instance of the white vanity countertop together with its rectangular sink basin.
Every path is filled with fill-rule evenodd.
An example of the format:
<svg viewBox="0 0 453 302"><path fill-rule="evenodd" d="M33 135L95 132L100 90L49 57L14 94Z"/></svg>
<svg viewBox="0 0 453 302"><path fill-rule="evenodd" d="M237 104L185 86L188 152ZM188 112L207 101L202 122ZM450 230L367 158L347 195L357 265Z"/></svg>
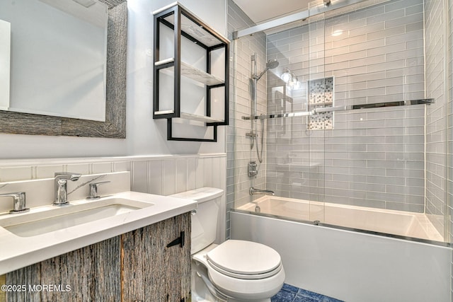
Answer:
<svg viewBox="0 0 453 302"><path fill-rule="evenodd" d="M0 276L196 208L190 199L126 191L62 207L31 206L23 214L4 212L0 245L7 248L0 248Z"/></svg>

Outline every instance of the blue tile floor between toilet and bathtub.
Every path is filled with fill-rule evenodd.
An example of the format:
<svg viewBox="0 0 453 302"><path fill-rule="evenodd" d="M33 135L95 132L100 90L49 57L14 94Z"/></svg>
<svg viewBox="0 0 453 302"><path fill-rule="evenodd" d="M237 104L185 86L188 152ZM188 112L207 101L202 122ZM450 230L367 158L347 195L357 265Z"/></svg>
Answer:
<svg viewBox="0 0 453 302"><path fill-rule="evenodd" d="M343 302L336 298L316 294L313 291L299 289L296 286L283 284L282 289L270 299L272 302Z"/></svg>

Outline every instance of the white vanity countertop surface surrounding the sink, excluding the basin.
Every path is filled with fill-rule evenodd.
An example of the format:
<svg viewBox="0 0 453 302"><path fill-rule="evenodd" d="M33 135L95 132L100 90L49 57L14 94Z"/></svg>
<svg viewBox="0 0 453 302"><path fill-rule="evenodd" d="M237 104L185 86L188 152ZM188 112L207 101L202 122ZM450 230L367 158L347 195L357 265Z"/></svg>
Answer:
<svg viewBox="0 0 453 302"><path fill-rule="evenodd" d="M197 202L189 199L139 192L117 193L115 197L150 202L154 205L30 237L16 236L5 228L0 227L0 274L6 274L21 267L32 265L93 243L98 243L122 233L149 226L150 224L192 211L197 207ZM83 199L70 203L81 204L100 200L102 198L93 201ZM28 213L43 210L51 211L52 209L55 209L55 207L48 205L32 208ZM11 217L11 214L0 214L0 221L9 217Z"/></svg>

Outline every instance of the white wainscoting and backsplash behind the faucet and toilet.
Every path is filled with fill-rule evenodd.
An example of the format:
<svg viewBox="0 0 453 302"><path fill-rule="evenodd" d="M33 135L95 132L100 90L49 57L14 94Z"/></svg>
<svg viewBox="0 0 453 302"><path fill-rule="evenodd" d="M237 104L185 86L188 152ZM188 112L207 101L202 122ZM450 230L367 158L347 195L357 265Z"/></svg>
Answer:
<svg viewBox="0 0 453 302"><path fill-rule="evenodd" d="M170 195L198 187L219 187L226 190L226 154L195 154L185 156L125 156L113 158L59 158L0 161L0 193L21 190L21 181L33 180L45 183L46 199L52 202L54 173L59 171L97 175L102 173L130 172L130 181L124 184L106 184L107 190L115 185L121 190L133 190L150 194ZM68 187L73 185L68 183ZM124 187L126 185L127 187ZM42 186L42 185L41 185ZM9 192L9 191L8 191ZM84 198L86 192L77 195ZM75 195L75 194L74 194ZM31 194L28 200L35 199ZM3 200L1 200L3 204ZM35 203L28 204L29 207ZM0 206L0 212L10 205ZM224 204L222 204L224 213ZM225 219L222 215L223 225Z"/></svg>

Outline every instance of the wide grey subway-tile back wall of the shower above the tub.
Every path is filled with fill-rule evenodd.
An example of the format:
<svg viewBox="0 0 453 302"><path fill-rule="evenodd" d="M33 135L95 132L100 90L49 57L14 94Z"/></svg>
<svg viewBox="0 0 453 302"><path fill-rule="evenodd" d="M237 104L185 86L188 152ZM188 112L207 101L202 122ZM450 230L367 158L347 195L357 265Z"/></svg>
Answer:
<svg viewBox="0 0 453 302"><path fill-rule="evenodd" d="M286 108L306 110L307 81L332 76L336 106L425 98L422 0L325 17L267 36L268 59L280 62L277 73L290 69L302 82L299 89L286 89ZM269 113L282 107L278 76L268 76ZM269 190L282 197L425 211L423 105L335 112L331 130L307 129L307 119L268 120Z"/></svg>

